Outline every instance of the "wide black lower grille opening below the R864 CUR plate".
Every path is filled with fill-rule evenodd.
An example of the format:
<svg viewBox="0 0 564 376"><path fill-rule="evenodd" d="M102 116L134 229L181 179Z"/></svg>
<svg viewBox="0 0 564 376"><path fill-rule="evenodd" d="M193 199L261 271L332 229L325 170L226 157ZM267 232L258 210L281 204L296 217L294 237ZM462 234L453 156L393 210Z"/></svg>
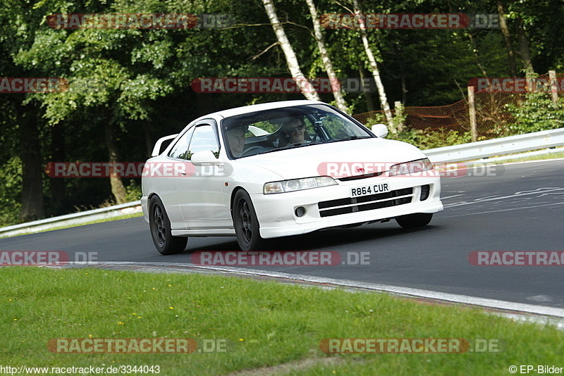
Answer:
<svg viewBox="0 0 564 376"><path fill-rule="evenodd" d="M332 215L372 211L374 209L388 208L389 206L403 205L412 201L413 196L409 196L412 194L413 188L396 189L391 192L369 194L367 196L320 201L317 203L317 207L321 217L330 217ZM398 199L394 199L394 197L398 197Z"/></svg>

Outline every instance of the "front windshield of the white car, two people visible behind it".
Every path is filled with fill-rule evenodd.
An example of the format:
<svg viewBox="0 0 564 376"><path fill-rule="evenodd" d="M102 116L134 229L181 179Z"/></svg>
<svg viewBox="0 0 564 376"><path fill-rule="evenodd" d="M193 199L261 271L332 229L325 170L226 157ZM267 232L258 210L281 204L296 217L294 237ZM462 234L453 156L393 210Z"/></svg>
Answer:
<svg viewBox="0 0 564 376"><path fill-rule="evenodd" d="M274 108L221 122L230 158L374 137L364 127L321 104Z"/></svg>

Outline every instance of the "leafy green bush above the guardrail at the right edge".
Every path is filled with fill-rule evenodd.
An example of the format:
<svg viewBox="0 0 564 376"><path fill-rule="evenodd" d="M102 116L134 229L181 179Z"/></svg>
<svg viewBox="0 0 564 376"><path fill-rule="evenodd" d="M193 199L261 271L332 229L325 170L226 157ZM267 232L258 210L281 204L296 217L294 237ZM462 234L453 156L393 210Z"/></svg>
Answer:
<svg viewBox="0 0 564 376"><path fill-rule="evenodd" d="M508 111L515 118L509 126L512 134L554 130L564 127L564 99L560 97L556 104L546 93L530 93L521 105L508 104Z"/></svg>

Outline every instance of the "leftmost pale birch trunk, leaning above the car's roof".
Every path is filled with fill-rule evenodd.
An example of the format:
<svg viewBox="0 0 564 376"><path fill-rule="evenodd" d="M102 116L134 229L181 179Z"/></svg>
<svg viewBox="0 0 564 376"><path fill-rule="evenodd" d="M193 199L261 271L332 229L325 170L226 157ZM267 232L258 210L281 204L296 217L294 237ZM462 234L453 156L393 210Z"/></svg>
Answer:
<svg viewBox="0 0 564 376"><path fill-rule="evenodd" d="M264 4L266 15L269 16L269 20L272 25L272 29L274 30L274 34L276 35L276 39L278 39L278 42L280 42L282 51L286 56L286 64L288 65L290 75L292 75L294 79L297 79L296 84L298 84L298 87L300 88L302 94L304 94L306 99L319 101L320 99L319 95L317 94L317 90L311 83L309 83L309 81L305 79L305 75L303 75L302 70L300 69L298 58L295 56L292 45L288 41L288 37L286 37L286 32L284 32L284 28L278 20L278 15L276 15L276 9L274 8L273 0L262 0L262 4Z"/></svg>

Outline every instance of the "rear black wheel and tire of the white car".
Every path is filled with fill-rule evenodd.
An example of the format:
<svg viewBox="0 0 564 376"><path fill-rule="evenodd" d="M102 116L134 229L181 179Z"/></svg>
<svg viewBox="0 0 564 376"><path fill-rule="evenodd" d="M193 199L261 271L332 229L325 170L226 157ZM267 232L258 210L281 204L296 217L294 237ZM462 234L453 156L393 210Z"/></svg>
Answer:
<svg viewBox="0 0 564 376"><path fill-rule="evenodd" d="M186 248L188 237L172 236L171 221L168 220L163 201L157 195L149 200L149 227L154 246L162 255L180 253Z"/></svg>

